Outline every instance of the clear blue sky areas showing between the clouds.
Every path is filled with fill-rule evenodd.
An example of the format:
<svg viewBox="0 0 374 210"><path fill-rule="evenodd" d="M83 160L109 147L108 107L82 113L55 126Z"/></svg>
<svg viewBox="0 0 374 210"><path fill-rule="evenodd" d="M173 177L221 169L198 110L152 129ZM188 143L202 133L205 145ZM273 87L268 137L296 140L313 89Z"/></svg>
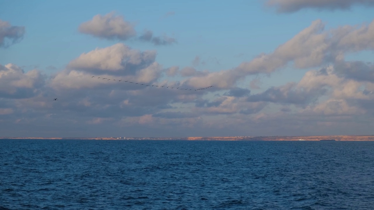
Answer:
<svg viewBox="0 0 374 210"><path fill-rule="evenodd" d="M287 1L278 0L278 3L287 6ZM3 66L10 63L15 64L25 72L36 69L47 75L46 83L53 83L51 82L53 78L49 78L49 76L65 71L69 62L78 58L82 53L88 53L97 47L105 48L117 43L123 43L132 49L140 51L157 50L155 62L161 65L164 70L178 66L180 70L184 67L194 67L197 71L206 70L212 73L235 69L243 62L251 62L261 53L271 54L278 46L291 40L300 31L309 27L313 21L318 19L321 19L325 24L324 32L343 27L344 25L360 26L366 24L367 26L373 21L373 7L360 5L357 3L358 1L354 0L351 1L352 6L348 10L339 9L338 6L336 9L330 10L321 4L318 5L319 8L317 9L304 6L304 8L292 13L277 13L276 8L266 6L266 2L265 0L230 2L205 0L183 3L178 1L105 1L105 3L103 1L0 1L0 20L7 21L12 26L25 27L25 34L19 43L0 49L0 64ZM327 0L326 4L328 2ZM355 2L356 4L354 4ZM151 30L154 36L166 34L168 37L175 38L177 43L155 46L151 43L137 40L107 40L80 33L78 28L83 22L90 21L95 15L104 16L113 11L116 15L122 15L124 21L134 23L134 29L137 34L141 34L143 30ZM370 46L370 43L368 45ZM199 56L201 61L205 61L206 64L193 66L192 62L196 56ZM373 49L361 49L356 50L356 52L346 50L344 51L344 58L345 62L371 62ZM272 61L270 60L269 62ZM332 63L329 64L334 65ZM247 74L244 76L245 80L236 81L232 86L221 87L220 90L207 91L204 97L214 101L217 98L217 94L222 97L225 92L234 88L250 89L252 95L264 93L272 86L279 87L289 82L298 83L306 72L322 68L325 65L328 65L328 63L314 65L311 68L296 69L292 65L291 59L287 66L279 67L270 74ZM51 66L55 68L50 68ZM261 81L261 86L258 89L251 89L250 87L250 82L254 78L258 78ZM186 78L181 75L171 77L162 74L157 81L168 80L172 82L184 79ZM365 83L365 85L371 88L371 84ZM40 91L40 94L42 94L43 90ZM31 100L33 97L24 99ZM7 101L7 103L14 102L10 102L10 100L14 99L5 97L2 100ZM32 100L37 99L34 98ZM177 101L176 99L173 100ZM193 101L196 99L191 100L188 103L194 104L196 102ZM341 100L341 98L335 98L335 100ZM344 100L350 101L347 98L344 98ZM368 98L367 100L371 99ZM256 102L269 101L260 100ZM316 104L305 104L302 109L305 109L307 105L310 105L310 109L313 109L312 105L317 106ZM243 105L243 107L245 106ZM262 112L268 109L270 110L268 113L277 112L278 110L274 107L278 106L293 105L288 102L272 101L267 104L267 108L263 109ZM14 107L11 109L13 110L12 113L16 115L16 109ZM183 110L185 109L188 108L183 108ZM190 109L193 112L194 109ZM182 109L178 108L176 110ZM53 109L49 110L49 112L51 111ZM72 110L70 111L73 112ZM365 111L371 113L372 110ZM261 114L262 112L260 111L253 115ZM235 113L240 115L240 110L238 109ZM204 111L202 111L199 120L204 121L210 118L205 118L204 116ZM126 115L124 117L126 118ZM217 115L217 117L222 119L230 118L222 114ZM19 118L19 116L15 118ZM255 117L251 116L241 120L246 121L252 118ZM321 116L321 119L323 118L324 116ZM9 119L14 120L13 118ZM111 123L114 123L118 119L112 120ZM234 126L234 121L230 122L232 126ZM87 126L89 127L89 125ZM137 129L142 128L144 128L144 125L138 125ZM183 130L183 127L178 129ZM116 132L120 133L119 130L121 129L118 128ZM211 130L214 130L214 126ZM332 130L340 129L335 127ZM193 129L192 131L189 130L189 132L193 132ZM369 130L366 132L369 132ZM252 134L247 132L245 127L241 130L239 129L239 131L235 130L230 135L235 133L237 135ZM258 133L265 135L266 130ZM303 132L295 133L292 129L284 133L288 135L303 134ZM320 133L327 134L328 132L322 129ZM141 136L141 134L134 132L133 135ZM331 134L335 133L332 132ZM339 132L336 134L339 134ZM41 135L43 134L41 133ZM56 135L61 134L57 132ZM81 133L79 135L88 134ZM97 133L97 135L100 135L100 133ZM105 133L102 133L102 135L105 135ZM175 133L173 135L178 134ZM191 136L194 135L191 133ZM196 132L196 135L214 136L215 133L214 131ZM163 136L168 136L168 133L164 133Z"/></svg>

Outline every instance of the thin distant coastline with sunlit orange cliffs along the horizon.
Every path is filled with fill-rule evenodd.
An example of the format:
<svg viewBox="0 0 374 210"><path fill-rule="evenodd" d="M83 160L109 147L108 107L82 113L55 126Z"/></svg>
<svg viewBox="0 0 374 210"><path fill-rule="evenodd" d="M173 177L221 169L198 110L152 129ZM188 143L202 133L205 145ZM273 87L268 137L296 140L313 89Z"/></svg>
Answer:
<svg viewBox="0 0 374 210"><path fill-rule="evenodd" d="M154 138L154 137L96 137L96 138L42 138L42 137L0 137L0 139L46 139L46 140L231 140L231 141L319 141L334 139L335 141L374 141L374 135L368 136L214 136L185 138Z"/></svg>

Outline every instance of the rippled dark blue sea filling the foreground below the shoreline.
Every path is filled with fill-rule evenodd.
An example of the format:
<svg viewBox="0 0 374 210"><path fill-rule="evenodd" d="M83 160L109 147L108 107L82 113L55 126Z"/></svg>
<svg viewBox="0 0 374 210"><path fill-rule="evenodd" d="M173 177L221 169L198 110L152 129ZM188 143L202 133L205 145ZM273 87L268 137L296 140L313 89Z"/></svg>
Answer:
<svg viewBox="0 0 374 210"><path fill-rule="evenodd" d="M0 140L0 209L374 209L374 142Z"/></svg>

